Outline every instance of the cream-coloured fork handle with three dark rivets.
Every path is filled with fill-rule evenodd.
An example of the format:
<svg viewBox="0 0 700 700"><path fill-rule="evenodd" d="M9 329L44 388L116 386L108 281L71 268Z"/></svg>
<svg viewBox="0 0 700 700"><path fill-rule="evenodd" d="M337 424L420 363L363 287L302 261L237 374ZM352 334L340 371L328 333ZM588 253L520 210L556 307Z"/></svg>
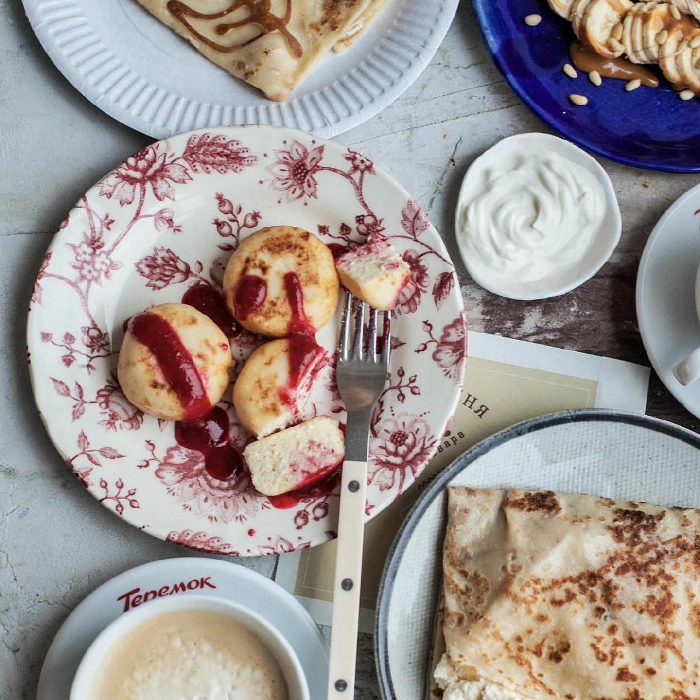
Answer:
<svg viewBox="0 0 700 700"><path fill-rule="evenodd" d="M367 462L344 461L340 489L328 700L352 700L355 688Z"/></svg>

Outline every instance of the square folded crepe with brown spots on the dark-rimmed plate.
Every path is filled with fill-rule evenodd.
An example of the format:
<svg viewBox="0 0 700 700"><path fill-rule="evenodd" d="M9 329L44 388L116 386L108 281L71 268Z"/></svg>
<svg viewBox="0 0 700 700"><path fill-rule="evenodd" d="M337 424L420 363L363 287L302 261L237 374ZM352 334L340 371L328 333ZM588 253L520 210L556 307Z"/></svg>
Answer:
<svg viewBox="0 0 700 700"><path fill-rule="evenodd" d="M700 511L449 489L444 700L700 698Z"/></svg>

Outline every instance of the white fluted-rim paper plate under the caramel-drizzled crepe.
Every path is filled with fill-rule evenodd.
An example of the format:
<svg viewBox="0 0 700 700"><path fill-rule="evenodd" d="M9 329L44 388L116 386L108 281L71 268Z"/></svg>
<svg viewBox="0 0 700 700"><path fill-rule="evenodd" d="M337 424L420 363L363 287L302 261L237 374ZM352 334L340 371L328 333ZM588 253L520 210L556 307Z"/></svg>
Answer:
<svg viewBox="0 0 700 700"><path fill-rule="evenodd" d="M356 43L271 102L162 25L136 0L24 0L50 59L93 104L163 139L265 124L333 137L391 104L428 65L458 0L393 0Z"/></svg>

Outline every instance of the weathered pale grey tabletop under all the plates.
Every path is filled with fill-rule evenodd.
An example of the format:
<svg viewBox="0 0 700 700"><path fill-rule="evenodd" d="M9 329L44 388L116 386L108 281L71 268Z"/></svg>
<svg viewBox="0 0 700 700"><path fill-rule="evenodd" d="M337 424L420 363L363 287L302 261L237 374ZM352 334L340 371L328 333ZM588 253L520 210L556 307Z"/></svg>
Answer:
<svg viewBox="0 0 700 700"><path fill-rule="evenodd" d="M381 165L441 232L472 330L649 365L634 306L640 255L659 216L700 176L601 160L622 209L622 240L612 258L571 293L512 302L466 274L453 212L473 158L498 139L529 131L547 128L501 78L463 0L414 84L337 140ZM31 286L59 223L87 188L151 141L76 92L43 52L20 0L0 0L0 700L36 696L52 637L99 584L141 563L188 556L120 521L71 475L34 406L25 349ZM700 428L653 373L647 413ZM272 557L235 561L274 574ZM379 698L371 637L361 635L359 645L356 696Z"/></svg>

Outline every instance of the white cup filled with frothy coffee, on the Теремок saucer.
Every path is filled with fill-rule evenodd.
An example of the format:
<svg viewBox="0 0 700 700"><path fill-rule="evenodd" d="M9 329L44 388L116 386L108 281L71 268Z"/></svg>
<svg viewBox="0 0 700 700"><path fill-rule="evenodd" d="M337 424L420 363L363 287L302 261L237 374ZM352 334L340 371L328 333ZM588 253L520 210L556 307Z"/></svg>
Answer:
<svg viewBox="0 0 700 700"><path fill-rule="evenodd" d="M218 596L156 598L124 612L94 639L70 700L199 696L251 700L271 687L280 698L309 700L304 669L266 619Z"/></svg>

